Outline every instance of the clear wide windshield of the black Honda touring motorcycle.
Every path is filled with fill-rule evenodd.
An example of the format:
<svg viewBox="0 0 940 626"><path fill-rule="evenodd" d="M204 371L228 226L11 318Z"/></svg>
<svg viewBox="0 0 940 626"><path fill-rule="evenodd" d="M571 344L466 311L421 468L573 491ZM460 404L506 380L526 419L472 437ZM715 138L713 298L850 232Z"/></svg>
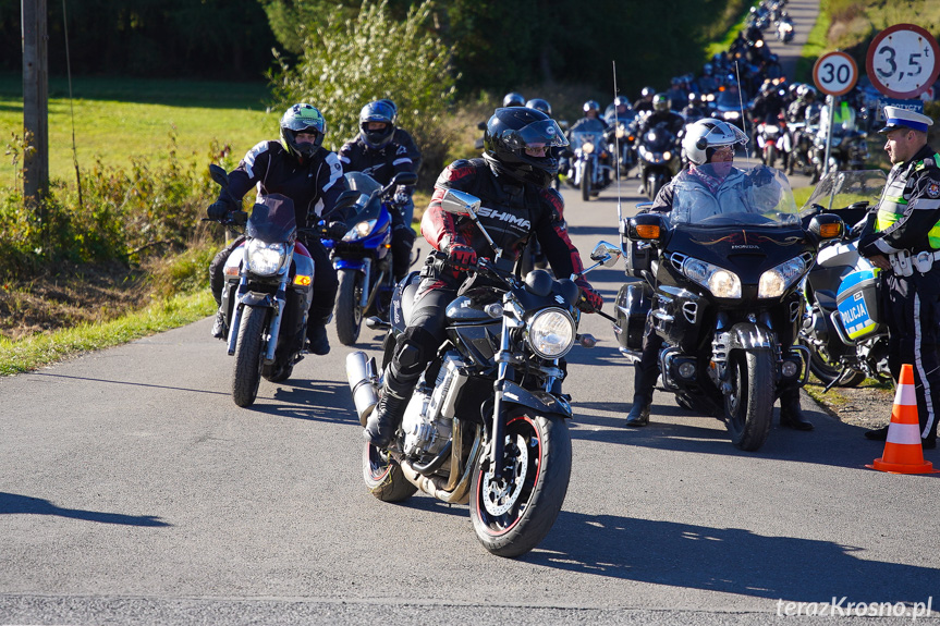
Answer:
<svg viewBox="0 0 940 626"><path fill-rule="evenodd" d="M674 179L670 224L700 228L799 224L790 182L766 165L696 165Z"/></svg>

